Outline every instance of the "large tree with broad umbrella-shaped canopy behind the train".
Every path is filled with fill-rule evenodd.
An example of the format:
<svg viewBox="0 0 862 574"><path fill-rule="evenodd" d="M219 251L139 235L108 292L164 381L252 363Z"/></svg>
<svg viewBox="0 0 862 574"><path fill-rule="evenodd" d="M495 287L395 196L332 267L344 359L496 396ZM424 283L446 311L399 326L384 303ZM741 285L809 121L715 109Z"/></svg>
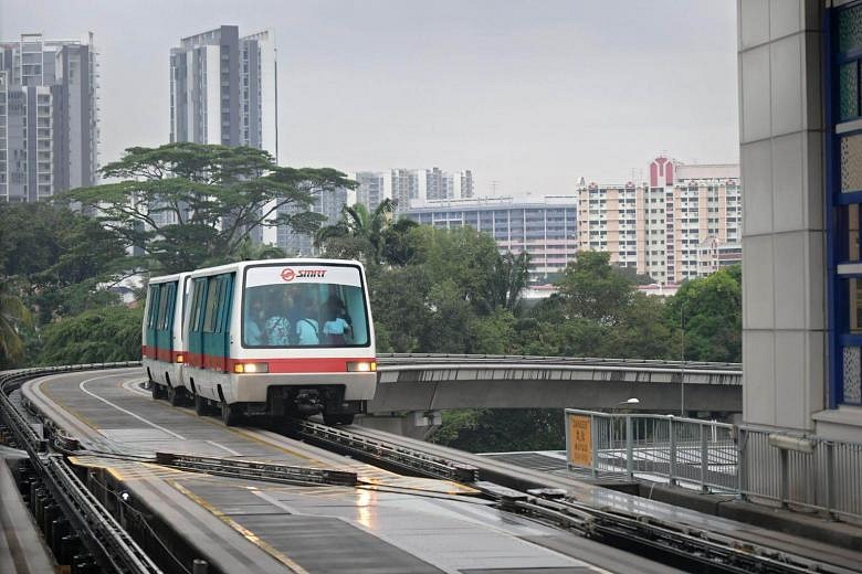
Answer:
<svg viewBox="0 0 862 574"><path fill-rule="evenodd" d="M323 221L308 211L315 196L354 185L333 169L278 167L263 150L191 142L129 148L99 172L119 181L57 200L93 210L160 273L230 261L261 226L314 233Z"/></svg>

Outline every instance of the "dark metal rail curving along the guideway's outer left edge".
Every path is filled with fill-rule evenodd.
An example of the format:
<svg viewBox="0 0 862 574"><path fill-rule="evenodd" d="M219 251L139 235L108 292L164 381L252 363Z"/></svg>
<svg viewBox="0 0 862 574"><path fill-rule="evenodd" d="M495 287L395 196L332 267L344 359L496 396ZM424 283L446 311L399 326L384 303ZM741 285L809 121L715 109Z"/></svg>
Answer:
<svg viewBox="0 0 862 574"><path fill-rule="evenodd" d="M136 364L138 363L49 366L2 373L0 374L0 416L19 446L27 450L33 468L103 567L129 574L160 574L161 570L87 490L65 458L48 453L48 442L36 433L8 397L8 394L19 389L24 381L36 376L90 369L117 369Z"/></svg>

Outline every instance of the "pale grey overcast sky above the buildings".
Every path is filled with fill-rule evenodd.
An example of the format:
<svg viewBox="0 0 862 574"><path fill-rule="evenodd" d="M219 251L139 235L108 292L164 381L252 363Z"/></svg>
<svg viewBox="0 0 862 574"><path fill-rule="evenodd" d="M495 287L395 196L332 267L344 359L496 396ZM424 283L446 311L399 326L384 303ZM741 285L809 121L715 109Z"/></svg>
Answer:
<svg viewBox="0 0 862 574"><path fill-rule="evenodd" d="M738 161L732 0L0 0L0 40L95 34L103 163L168 141L169 50L221 24L275 31L283 164L538 196Z"/></svg>

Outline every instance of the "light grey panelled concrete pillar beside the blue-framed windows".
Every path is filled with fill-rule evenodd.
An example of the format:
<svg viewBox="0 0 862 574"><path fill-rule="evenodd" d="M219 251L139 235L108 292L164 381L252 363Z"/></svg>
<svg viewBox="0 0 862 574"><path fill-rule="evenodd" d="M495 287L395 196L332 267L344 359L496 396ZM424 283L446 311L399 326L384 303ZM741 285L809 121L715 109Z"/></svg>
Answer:
<svg viewBox="0 0 862 574"><path fill-rule="evenodd" d="M739 0L743 417L824 406L822 0Z"/></svg>

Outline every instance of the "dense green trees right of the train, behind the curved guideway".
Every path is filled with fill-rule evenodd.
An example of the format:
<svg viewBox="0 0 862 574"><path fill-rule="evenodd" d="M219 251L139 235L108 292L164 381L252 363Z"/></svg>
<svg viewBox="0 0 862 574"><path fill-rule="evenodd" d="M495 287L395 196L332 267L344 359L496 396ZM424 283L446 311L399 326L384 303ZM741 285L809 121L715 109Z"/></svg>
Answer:
<svg viewBox="0 0 862 574"><path fill-rule="evenodd" d="M366 262L380 352L742 360L739 267L663 300L638 291L649 277L585 252L558 276L558 293L529 307L526 255L500 254L471 227L403 225L388 209L355 208L320 231L318 245ZM559 411L458 411L431 439L469 450L560 448L561 422Z"/></svg>

